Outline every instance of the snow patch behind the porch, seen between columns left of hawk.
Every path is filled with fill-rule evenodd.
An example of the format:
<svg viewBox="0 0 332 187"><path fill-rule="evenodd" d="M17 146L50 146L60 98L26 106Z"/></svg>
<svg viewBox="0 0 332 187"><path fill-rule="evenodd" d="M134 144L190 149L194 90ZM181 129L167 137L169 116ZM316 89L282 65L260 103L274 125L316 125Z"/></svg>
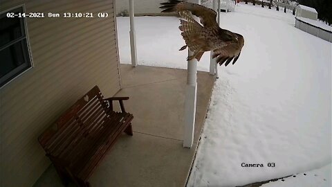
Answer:
<svg viewBox="0 0 332 187"><path fill-rule="evenodd" d="M131 64L129 17L118 17L120 62ZM187 69L186 51L178 51L185 44L178 30L176 17L136 17L136 43L138 64ZM198 69L208 71L210 53L206 53Z"/></svg>

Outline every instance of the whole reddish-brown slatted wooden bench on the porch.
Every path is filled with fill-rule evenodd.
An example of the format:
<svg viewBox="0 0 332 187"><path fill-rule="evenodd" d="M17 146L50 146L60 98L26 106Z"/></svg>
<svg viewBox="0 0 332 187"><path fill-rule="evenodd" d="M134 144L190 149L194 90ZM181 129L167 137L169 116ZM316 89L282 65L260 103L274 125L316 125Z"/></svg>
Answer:
<svg viewBox="0 0 332 187"><path fill-rule="evenodd" d="M88 179L93 170L122 132L133 135L133 115L123 105L128 99L103 99L95 86L57 120L55 129L39 136L65 186L68 179L77 186L90 186ZM113 111L113 100L119 101L122 112Z"/></svg>

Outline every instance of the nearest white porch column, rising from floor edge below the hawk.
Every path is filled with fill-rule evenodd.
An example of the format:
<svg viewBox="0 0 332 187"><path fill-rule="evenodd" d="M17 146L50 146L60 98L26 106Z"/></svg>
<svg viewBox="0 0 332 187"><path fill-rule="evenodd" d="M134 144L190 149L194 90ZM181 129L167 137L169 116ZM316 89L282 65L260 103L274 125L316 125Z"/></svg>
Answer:
<svg viewBox="0 0 332 187"><path fill-rule="evenodd" d="M188 50L188 55L193 55ZM194 142L197 95L197 60L187 62L187 86L185 87L185 137L183 147L192 148Z"/></svg>

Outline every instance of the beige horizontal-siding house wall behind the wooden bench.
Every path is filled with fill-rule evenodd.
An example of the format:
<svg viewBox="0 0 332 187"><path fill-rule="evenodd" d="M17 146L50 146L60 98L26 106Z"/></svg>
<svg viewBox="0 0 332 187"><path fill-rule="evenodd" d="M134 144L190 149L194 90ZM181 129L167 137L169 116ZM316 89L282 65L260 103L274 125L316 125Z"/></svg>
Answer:
<svg viewBox="0 0 332 187"><path fill-rule="evenodd" d="M34 68L0 89L0 186L33 186L50 164L37 137L95 84L104 96L120 89L113 1L1 0L0 11L23 3L95 17L27 19Z"/></svg>

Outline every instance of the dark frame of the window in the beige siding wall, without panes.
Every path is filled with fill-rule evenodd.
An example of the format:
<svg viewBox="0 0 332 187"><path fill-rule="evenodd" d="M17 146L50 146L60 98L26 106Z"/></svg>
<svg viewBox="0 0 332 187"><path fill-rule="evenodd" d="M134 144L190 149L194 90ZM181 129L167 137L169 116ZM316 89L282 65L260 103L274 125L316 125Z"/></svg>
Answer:
<svg viewBox="0 0 332 187"><path fill-rule="evenodd" d="M15 6L15 7L8 8L6 10L1 11L0 19L2 17L6 17L7 12L14 11L17 9L19 9L19 11L22 11L21 13L26 12L25 4L21 4L19 6ZM0 89L2 89L3 87L6 87L6 85L10 84L10 82L19 78L21 75L26 73L26 71L29 71L30 69L33 69L35 67L33 64L33 55L31 53L31 49L30 49L30 41L29 41L26 17L20 17L19 19L20 19L19 22L20 22L20 27L21 27L21 33L24 34L25 36L21 36L15 40L10 41L8 44L5 44L2 48L3 49L9 48L13 44L18 44L19 42L21 42L20 46L22 47L22 50L23 50L24 60L30 60L30 63L25 62L24 64L17 66L15 69L12 69L12 71L10 71L8 74L6 74L2 78L0 78ZM24 41L26 44L24 44Z"/></svg>

